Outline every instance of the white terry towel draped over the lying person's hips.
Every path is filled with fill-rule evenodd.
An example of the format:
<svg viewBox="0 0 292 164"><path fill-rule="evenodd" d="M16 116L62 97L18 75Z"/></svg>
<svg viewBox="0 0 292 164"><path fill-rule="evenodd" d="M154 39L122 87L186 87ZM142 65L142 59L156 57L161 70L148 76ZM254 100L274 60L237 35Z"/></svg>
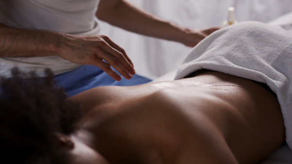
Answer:
<svg viewBox="0 0 292 164"><path fill-rule="evenodd" d="M292 149L292 32L254 21L221 29L190 51L175 79L202 68L268 84L280 103Z"/></svg>

